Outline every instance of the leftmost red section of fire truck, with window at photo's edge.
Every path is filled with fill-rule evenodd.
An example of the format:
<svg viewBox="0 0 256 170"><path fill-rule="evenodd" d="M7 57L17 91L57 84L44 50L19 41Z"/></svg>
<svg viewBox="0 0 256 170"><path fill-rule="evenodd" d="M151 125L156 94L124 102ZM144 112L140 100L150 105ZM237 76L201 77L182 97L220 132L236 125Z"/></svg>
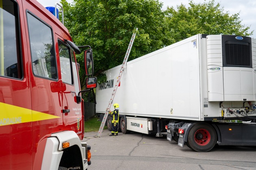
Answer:
<svg viewBox="0 0 256 170"><path fill-rule="evenodd" d="M20 8L20 10L18 10ZM0 0L0 169L31 169L32 110L22 7ZM20 22L21 21L21 22ZM24 23L24 21L23 21Z"/></svg>

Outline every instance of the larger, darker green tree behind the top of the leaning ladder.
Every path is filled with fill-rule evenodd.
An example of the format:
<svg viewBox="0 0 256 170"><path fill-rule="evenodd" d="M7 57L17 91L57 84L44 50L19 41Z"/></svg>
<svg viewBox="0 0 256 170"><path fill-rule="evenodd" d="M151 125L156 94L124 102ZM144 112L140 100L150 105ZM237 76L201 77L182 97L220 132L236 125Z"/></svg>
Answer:
<svg viewBox="0 0 256 170"><path fill-rule="evenodd" d="M164 12L158 0L61 0L65 26L77 45L93 49L95 76L122 63L138 28L129 60L163 47ZM82 57L77 57L82 68ZM82 69L81 69L82 70ZM84 75L84 74L80 74ZM84 77L80 77L81 84Z"/></svg>

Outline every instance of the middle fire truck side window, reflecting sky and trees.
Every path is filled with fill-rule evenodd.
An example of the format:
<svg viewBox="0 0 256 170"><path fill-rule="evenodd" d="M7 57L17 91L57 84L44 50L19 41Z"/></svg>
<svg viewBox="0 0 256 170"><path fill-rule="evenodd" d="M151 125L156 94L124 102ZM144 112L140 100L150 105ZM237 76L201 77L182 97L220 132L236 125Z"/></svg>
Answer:
<svg viewBox="0 0 256 170"><path fill-rule="evenodd" d="M27 18L33 73L57 79L52 29L30 13Z"/></svg>

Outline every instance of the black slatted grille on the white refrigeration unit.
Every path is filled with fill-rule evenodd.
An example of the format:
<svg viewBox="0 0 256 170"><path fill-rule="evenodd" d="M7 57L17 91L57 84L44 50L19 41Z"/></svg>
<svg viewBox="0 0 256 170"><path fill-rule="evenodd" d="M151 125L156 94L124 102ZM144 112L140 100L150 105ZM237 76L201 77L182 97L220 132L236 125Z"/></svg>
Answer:
<svg viewBox="0 0 256 170"><path fill-rule="evenodd" d="M226 66L252 67L252 49L248 42L225 41Z"/></svg>

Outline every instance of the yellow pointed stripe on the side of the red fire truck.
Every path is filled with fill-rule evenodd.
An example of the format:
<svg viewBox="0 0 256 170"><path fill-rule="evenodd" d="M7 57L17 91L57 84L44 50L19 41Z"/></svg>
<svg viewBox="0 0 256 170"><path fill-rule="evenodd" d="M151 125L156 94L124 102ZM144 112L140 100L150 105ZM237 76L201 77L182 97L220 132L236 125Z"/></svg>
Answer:
<svg viewBox="0 0 256 170"><path fill-rule="evenodd" d="M60 118L58 116L1 102L0 108L2 110L2 113L0 114L0 126Z"/></svg>

